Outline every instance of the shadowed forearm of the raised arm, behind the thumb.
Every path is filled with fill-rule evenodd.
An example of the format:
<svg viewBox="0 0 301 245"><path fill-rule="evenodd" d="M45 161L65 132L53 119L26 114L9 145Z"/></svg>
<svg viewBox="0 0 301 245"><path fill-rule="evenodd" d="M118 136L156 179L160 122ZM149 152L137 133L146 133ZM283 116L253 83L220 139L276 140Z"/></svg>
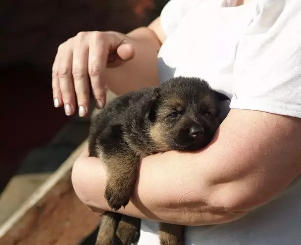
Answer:
<svg viewBox="0 0 301 245"><path fill-rule="evenodd" d="M148 27L135 29L127 35L117 34L133 44L135 55L130 61L105 71L107 87L116 94L123 94L142 87L159 84L157 55L161 47L156 32Z"/></svg>

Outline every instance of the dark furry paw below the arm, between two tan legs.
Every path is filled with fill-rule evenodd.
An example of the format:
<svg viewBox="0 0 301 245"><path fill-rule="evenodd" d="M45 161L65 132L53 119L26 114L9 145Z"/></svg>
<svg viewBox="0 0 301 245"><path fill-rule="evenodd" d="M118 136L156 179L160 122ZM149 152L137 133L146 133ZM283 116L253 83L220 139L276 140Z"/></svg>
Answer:
<svg viewBox="0 0 301 245"><path fill-rule="evenodd" d="M138 241L140 230L130 223L120 221L116 230L117 237L121 240L123 245L131 245Z"/></svg>

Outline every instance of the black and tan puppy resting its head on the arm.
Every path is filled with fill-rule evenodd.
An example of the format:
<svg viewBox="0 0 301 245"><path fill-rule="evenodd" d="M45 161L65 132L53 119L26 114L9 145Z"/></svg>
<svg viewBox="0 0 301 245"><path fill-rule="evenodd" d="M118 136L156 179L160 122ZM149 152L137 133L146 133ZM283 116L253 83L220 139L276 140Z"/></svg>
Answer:
<svg viewBox="0 0 301 245"><path fill-rule="evenodd" d="M105 198L118 210L134 191L141 158L169 150L194 151L208 145L219 122L219 101L204 80L173 78L154 88L117 97L92 120L89 154L106 164ZM96 245L130 245L139 238L140 219L105 212ZM183 242L184 226L160 223L161 245Z"/></svg>

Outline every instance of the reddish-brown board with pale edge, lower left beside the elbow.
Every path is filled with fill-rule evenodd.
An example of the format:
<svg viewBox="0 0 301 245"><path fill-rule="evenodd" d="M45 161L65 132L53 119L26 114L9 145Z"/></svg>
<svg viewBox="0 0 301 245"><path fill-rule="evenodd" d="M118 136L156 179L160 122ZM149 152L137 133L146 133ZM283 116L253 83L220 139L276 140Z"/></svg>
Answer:
<svg viewBox="0 0 301 245"><path fill-rule="evenodd" d="M81 203L71 183L84 143L0 227L1 245L74 245L95 229L99 216Z"/></svg>

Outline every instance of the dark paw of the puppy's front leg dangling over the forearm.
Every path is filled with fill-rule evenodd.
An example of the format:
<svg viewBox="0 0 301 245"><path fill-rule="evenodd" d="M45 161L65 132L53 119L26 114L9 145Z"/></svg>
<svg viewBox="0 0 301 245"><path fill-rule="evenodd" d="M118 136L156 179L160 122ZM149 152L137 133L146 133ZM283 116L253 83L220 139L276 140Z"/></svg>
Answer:
<svg viewBox="0 0 301 245"><path fill-rule="evenodd" d="M116 185L108 184L105 188L105 198L110 208L118 210L121 206L125 207L129 202L131 191L124 191Z"/></svg>

